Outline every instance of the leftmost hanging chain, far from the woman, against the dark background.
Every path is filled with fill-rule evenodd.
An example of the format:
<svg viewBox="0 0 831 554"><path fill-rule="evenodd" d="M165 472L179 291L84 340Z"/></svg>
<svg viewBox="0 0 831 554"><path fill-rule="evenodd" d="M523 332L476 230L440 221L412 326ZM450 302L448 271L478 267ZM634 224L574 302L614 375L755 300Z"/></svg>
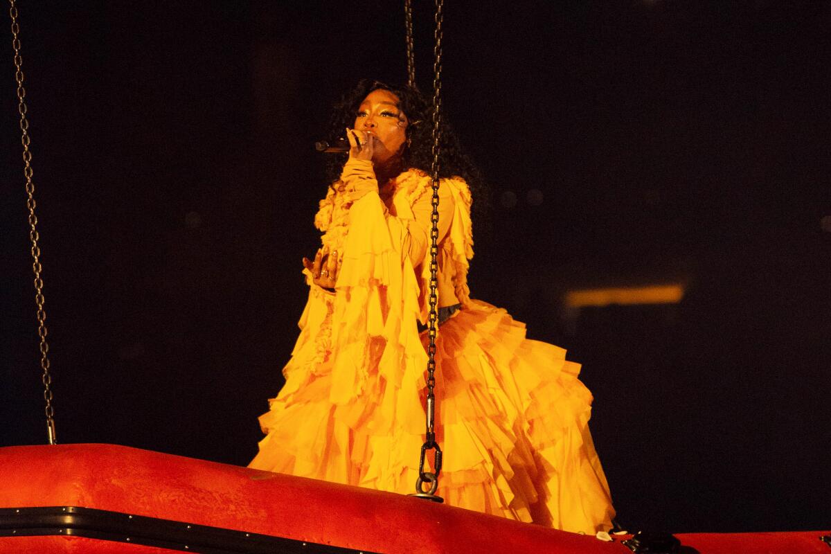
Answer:
<svg viewBox="0 0 831 554"><path fill-rule="evenodd" d="M29 120L26 113L26 89L23 88L23 60L20 56L20 26L17 24L17 6L15 0L8 0L9 15L12 17L12 48L14 48L14 66L17 69L17 111L20 112L21 142L23 145L23 175L26 177L26 205L29 208L29 238L32 240L32 271L35 273L35 303L37 303L37 334L41 337L41 368L43 370L43 399L46 400L47 434L49 444L57 444L55 434L55 409L52 408L52 375L49 374L49 343L47 343L47 312L43 304L43 279L41 278L41 248L37 245L40 235L37 233L37 216L35 216L35 184L32 183L32 153L29 151Z"/></svg>

